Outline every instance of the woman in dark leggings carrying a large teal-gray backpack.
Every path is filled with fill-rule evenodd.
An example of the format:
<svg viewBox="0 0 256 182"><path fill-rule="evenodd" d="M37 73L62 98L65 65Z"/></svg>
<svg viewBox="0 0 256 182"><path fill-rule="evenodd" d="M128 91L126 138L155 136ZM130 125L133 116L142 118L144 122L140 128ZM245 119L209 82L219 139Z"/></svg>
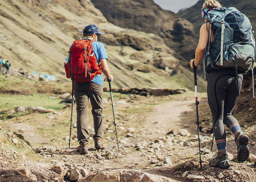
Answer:
<svg viewBox="0 0 256 182"><path fill-rule="evenodd" d="M213 132L218 153L209 161L210 166L229 168L226 132L223 123L233 132L237 145L238 162L249 157L249 138L242 133L232 111L236 106L243 80L243 73L253 67L255 41L249 19L236 8L223 8L216 0L206 0L202 8L206 22L200 28L195 59L197 67L204 53L208 72L207 95L213 119Z"/></svg>

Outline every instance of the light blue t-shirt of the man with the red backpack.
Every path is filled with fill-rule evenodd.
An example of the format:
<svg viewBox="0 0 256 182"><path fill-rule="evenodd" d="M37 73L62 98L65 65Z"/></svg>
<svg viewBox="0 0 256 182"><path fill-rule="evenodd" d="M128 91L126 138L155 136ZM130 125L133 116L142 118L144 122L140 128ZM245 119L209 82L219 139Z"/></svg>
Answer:
<svg viewBox="0 0 256 182"><path fill-rule="evenodd" d="M93 44L93 52L97 58L98 63L99 63L99 59L104 59L104 58L108 59L105 47L101 42L93 41L92 44ZM72 45L70 47L72 47ZM69 55L68 55L68 60L69 60ZM92 82L97 83L99 85L103 85L102 75L95 75Z"/></svg>

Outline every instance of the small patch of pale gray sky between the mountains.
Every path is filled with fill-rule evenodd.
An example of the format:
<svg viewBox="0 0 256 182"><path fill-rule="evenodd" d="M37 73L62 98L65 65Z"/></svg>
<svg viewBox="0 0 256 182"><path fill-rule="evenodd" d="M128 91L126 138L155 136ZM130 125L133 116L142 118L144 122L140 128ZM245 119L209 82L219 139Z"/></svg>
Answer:
<svg viewBox="0 0 256 182"><path fill-rule="evenodd" d="M198 0L154 0L161 8L177 13L180 9L189 8Z"/></svg>

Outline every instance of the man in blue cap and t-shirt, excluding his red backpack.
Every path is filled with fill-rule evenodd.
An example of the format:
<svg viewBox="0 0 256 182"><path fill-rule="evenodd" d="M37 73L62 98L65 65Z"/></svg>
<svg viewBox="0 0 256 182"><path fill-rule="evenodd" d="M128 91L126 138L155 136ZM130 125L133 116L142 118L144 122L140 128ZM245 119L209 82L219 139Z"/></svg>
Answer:
<svg viewBox="0 0 256 182"><path fill-rule="evenodd" d="M95 135L94 146L95 149L102 149L102 137L103 137L103 124L102 124L102 96L103 96L103 78L101 72L106 76L106 80L111 82L113 80L113 76L110 75L110 70L107 64L108 56L106 54L105 47L101 42L98 42L98 35L103 35L98 31L98 27L96 25L88 25L83 30L83 38L79 40L89 40L92 42L93 52L91 52L90 56L96 56L97 63L99 65L98 74L96 74L93 80L87 82L76 82L74 80L74 96L76 100L76 112L77 112L77 136L79 141L79 146L77 147L77 151L80 154L86 154L88 139L90 137L89 131L87 129L87 110L88 110L88 102L90 99L92 106L92 114L93 114L93 122L94 122L94 131ZM77 40L77 41L79 41ZM86 42L86 41L84 41ZM87 41L88 42L88 41ZM72 44L72 46L76 43ZM73 56L75 58L75 50L72 52L72 46L69 51L69 58ZM83 48L86 50L86 48ZM71 53L72 52L72 53ZM87 62L87 59L84 58L84 62ZM72 64L72 63L71 63ZM102 70L102 71L101 71ZM90 74L90 71L89 73Z"/></svg>

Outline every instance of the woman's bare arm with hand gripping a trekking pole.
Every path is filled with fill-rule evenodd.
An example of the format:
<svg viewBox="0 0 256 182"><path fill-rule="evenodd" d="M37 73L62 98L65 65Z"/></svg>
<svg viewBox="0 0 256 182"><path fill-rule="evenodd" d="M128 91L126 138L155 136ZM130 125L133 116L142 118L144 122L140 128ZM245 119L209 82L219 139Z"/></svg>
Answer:
<svg viewBox="0 0 256 182"><path fill-rule="evenodd" d="M193 61L195 60L195 66L197 67L204 55L204 51L209 41L209 28L210 26L208 26L208 28L206 29L206 23L203 24L202 27L200 28L200 36L199 36L199 42L196 48L196 56L195 56L195 59L190 60L190 67L192 69L193 69Z"/></svg>

